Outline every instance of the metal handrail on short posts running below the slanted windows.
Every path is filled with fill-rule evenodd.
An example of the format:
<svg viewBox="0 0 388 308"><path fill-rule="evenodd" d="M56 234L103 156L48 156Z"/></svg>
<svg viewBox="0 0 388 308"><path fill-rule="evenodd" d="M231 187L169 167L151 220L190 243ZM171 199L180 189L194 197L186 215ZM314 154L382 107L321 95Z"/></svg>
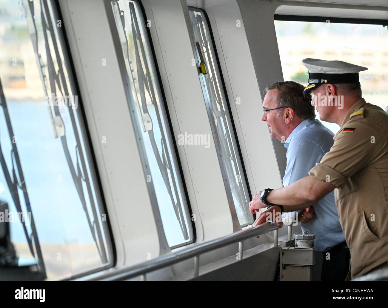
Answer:
<svg viewBox="0 0 388 308"><path fill-rule="evenodd" d="M159 258L150 260L140 265L132 266L130 268L124 268L122 270L118 270L115 272L93 275L89 279L81 279L81 280L117 281L117 280L130 279L136 276L142 276L141 279L145 280L146 273L152 272L154 270L159 270L163 267L173 265L175 263L182 262L190 258L194 258L194 277L197 277L199 273L199 256L201 254L228 246L230 244L235 244L238 242L240 260L242 260L242 251L243 251L242 241L246 239L250 239L251 237L262 235L267 232L275 230L274 246L277 246L278 229L279 227L277 227L275 222L263 223L260 226L241 230L233 234L225 235L223 237L220 237L212 241L187 247L186 249L181 251L165 254L163 256L160 256Z"/></svg>

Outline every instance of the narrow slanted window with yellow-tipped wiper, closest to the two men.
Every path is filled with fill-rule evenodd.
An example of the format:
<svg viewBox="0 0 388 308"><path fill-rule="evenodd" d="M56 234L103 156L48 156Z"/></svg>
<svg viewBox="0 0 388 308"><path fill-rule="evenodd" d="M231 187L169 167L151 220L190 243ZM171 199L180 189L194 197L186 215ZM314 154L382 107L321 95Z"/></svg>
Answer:
<svg viewBox="0 0 388 308"><path fill-rule="evenodd" d="M228 200L242 227L253 223L249 193L206 14L189 7L197 66Z"/></svg>

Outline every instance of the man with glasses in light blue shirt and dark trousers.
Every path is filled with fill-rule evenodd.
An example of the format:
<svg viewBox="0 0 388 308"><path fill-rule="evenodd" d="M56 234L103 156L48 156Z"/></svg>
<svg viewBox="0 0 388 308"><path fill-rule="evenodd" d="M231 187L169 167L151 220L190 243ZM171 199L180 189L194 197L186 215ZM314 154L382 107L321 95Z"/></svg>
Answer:
<svg viewBox="0 0 388 308"><path fill-rule="evenodd" d="M307 176L334 143L334 134L315 119L311 96L303 94L303 88L293 81L273 83L266 88L263 101L262 121L267 122L271 137L284 143L287 149L284 186ZM324 253L321 279L344 281L350 252L338 218L334 192L298 213L302 230L315 234L317 252Z"/></svg>

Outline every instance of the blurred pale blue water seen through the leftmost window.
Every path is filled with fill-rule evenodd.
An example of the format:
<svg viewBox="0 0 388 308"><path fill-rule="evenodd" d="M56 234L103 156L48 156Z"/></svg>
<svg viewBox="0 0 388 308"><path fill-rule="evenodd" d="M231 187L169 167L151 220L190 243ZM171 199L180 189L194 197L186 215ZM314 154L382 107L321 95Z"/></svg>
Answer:
<svg viewBox="0 0 388 308"><path fill-rule="evenodd" d="M64 245L94 243L61 140L54 138L45 101L13 100L7 105L40 242ZM75 138L66 108L61 107L69 151L75 164ZM0 142L12 175L11 143L4 119L3 109L0 108ZM5 188L0 198L8 202L9 211L16 211L3 172L0 172L0 183ZM22 208L26 210L21 189L19 196ZM13 242L26 242L21 223L10 223L10 228Z"/></svg>

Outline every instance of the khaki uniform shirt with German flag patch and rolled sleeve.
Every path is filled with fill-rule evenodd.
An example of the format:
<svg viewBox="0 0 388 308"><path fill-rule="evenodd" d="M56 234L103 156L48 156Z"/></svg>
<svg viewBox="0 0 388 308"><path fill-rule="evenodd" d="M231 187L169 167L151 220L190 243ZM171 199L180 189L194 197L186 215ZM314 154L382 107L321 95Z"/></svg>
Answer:
<svg viewBox="0 0 388 308"><path fill-rule="evenodd" d="M337 187L354 279L388 261L388 114L360 99L333 139L309 175Z"/></svg>

